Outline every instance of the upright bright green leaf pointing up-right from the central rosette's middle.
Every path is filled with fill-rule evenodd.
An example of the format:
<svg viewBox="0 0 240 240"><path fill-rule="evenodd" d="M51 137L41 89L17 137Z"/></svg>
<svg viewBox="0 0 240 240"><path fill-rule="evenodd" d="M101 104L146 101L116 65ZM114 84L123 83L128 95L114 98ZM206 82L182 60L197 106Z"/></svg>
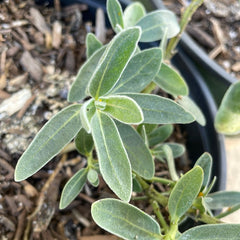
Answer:
<svg viewBox="0 0 240 240"><path fill-rule="evenodd" d="M98 99L115 85L136 50L140 33L138 27L128 28L112 39L90 80L92 97Z"/></svg>

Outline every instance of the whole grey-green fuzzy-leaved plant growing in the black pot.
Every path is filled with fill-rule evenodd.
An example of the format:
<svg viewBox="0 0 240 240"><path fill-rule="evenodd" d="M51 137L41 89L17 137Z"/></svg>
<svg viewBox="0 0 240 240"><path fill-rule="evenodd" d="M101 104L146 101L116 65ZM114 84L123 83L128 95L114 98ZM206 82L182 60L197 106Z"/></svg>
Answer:
<svg viewBox="0 0 240 240"><path fill-rule="evenodd" d="M78 196L87 181L97 187L101 175L118 199L94 202L92 218L122 239L240 239L240 224L221 220L240 208L240 192L210 193L216 178L211 179L209 153L203 153L191 170L179 175L174 159L182 156L185 148L165 142L173 133L173 124L197 121L205 125L203 113L188 96L186 82L166 61L168 40L182 30L177 18L168 10L146 13L138 2L123 11L118 0L107 0L107 13L116 35L102 45L94 34L87 34L87 60L68 93L73 104L39 131L17 163L15 180L36 173L74 139L87 164L66 183L60 209ZM160 45L139 47L140 42L157 40ZM234 114L229 114L232 108L240 112L239 102L229 107L240 92L239 83L236 85L238 89L231 88L230 97L220 107L218 128L225 124L224 118ZM171 98L152 94L156 86ZM238 130L239 123L238 118ZM155 176L156 161L168 165L171 179ZM155 188L157 182L166 185L166 192ZM154 216L129 204L133 192L142 193L141 199L152 206ZM225 207L227 210L213 215L214 210ZM179 225L187 217L206 224L180 233Z"/></svg>

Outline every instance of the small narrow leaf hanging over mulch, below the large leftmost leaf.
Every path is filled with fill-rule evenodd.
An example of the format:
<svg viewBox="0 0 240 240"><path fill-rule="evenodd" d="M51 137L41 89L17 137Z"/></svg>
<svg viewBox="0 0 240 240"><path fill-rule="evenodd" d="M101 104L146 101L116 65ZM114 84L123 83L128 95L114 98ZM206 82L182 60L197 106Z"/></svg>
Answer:
<svg viewBox="0 0 240 240"><path fill-rule="evenodd" d="M66 208L82 191L83 186L87 181L88 170L86 168L80 169L75 173L63 188L59 208Z"/></svg>

